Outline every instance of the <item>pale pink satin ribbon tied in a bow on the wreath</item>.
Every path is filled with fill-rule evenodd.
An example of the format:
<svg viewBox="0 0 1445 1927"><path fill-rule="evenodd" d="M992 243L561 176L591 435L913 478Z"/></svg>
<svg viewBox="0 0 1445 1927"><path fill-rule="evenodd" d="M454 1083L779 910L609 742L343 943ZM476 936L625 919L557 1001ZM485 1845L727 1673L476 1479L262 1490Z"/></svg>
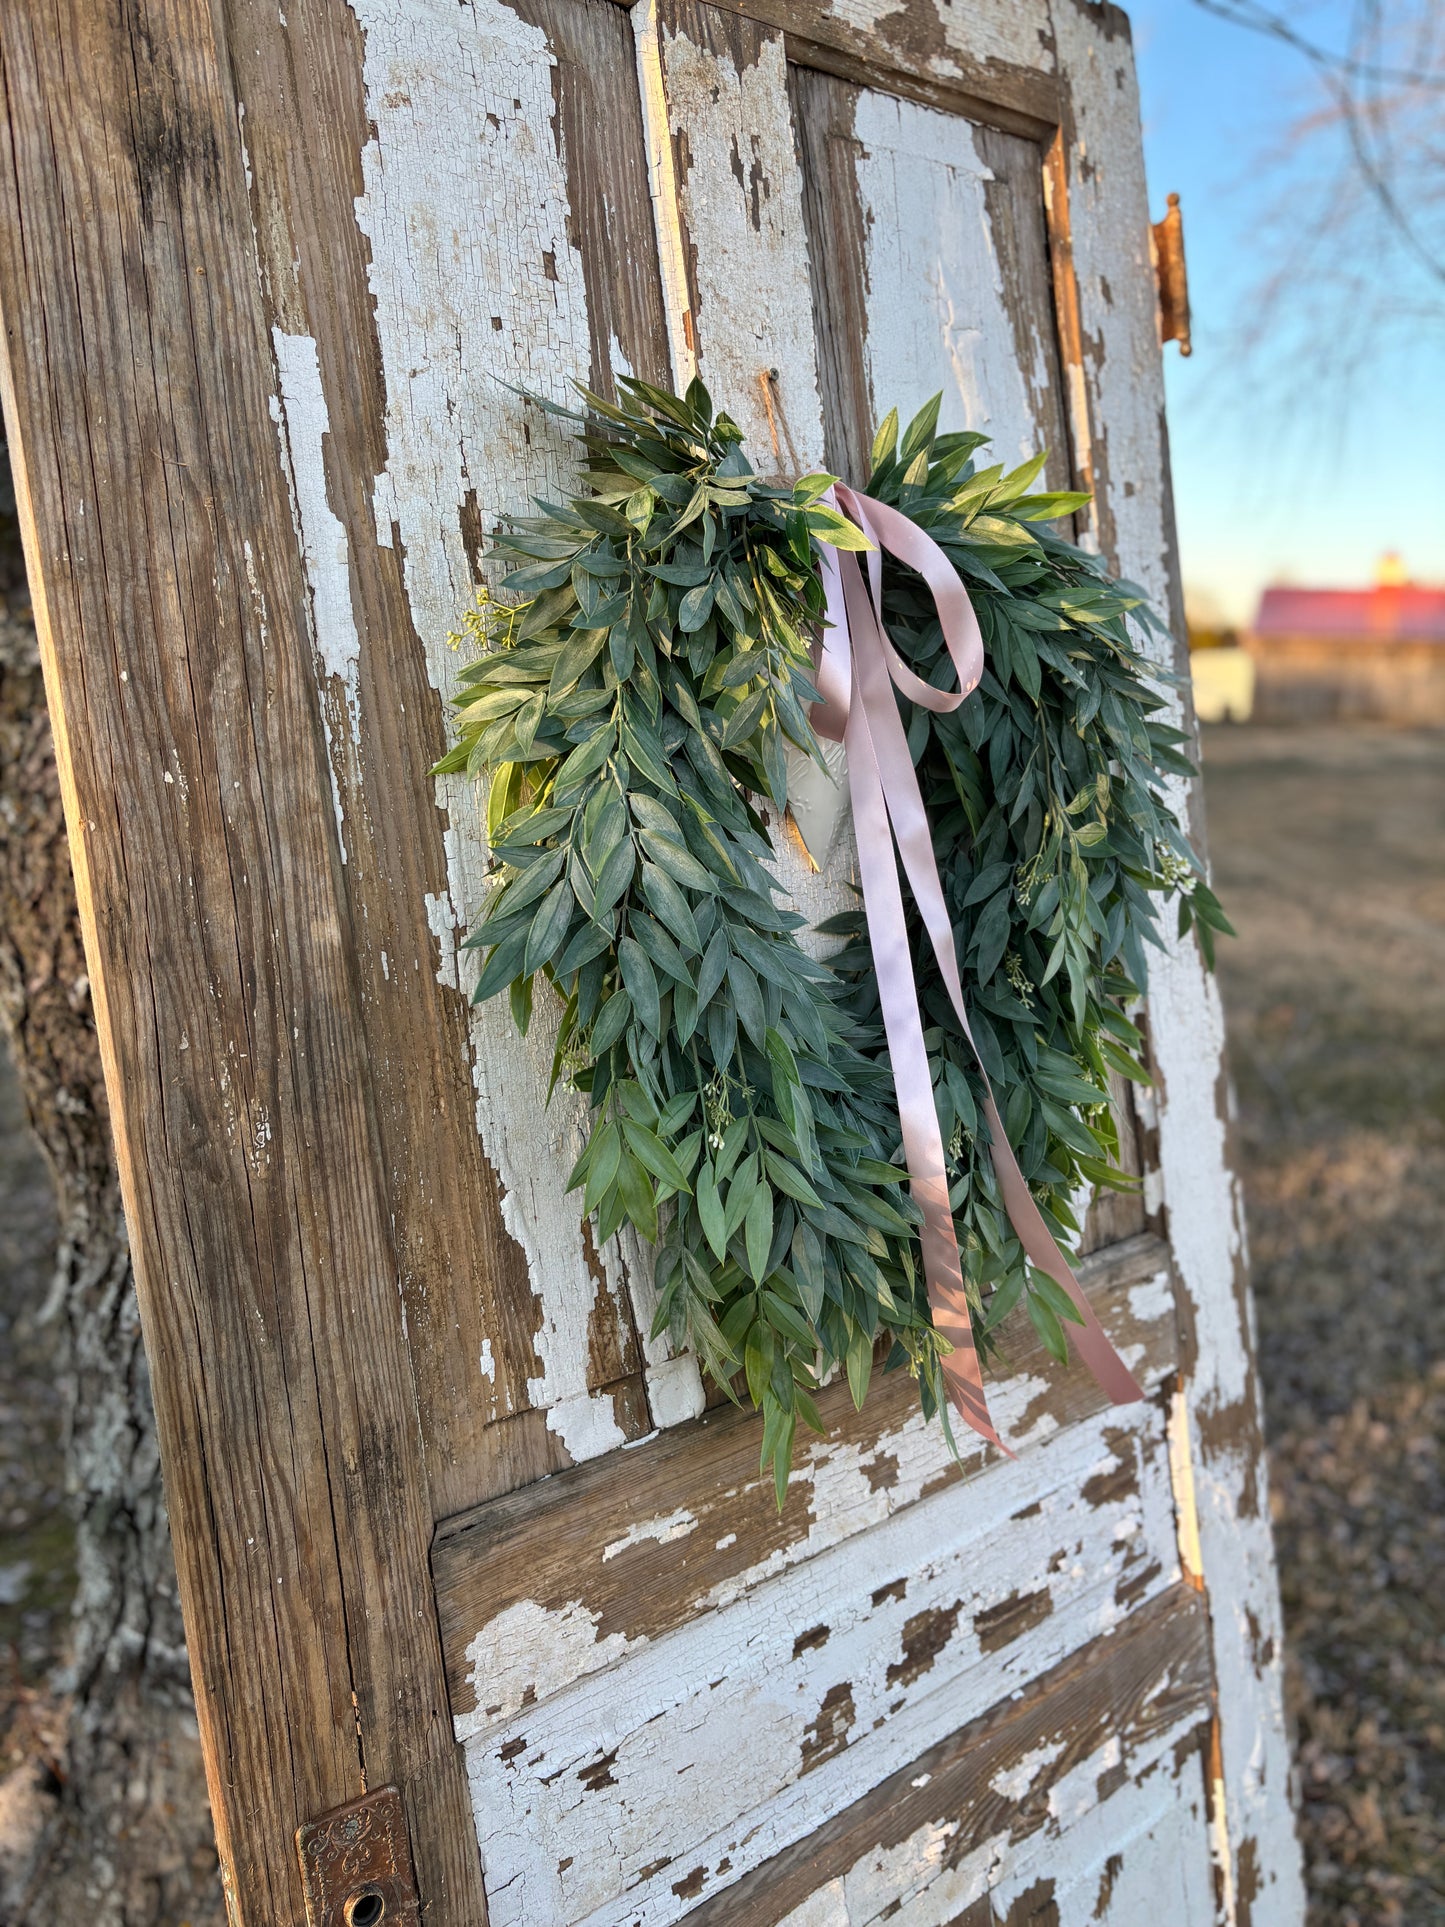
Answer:
<svg viewBox="0 0 1445 1927"><path fill-rule="evenodd" d="M913 1199L923 1212L923 1270L929 1281L929 1305L938 1332L952 1343L944 1357L944 1380L959 1416L981 1438L1004 1451L988 1416L979 1353L973 1343L973 1320L963 1289L963 1266L954 1233L954 1214L948 1204L948 1168L944 1141L938 1129L938 1110L929 1075L929 1052L923 1044L923 1016L913 977L913 958L904 923L904 892L898 883L894 840L904 859L913 902L929 931L938 969L944 973L948 996L973 1046L983 1077L983 1114L998 1174L998 1189L1029 1260L1056 1280L1073 1299L1081 1326L1071 1328L1079 1357L1116 1405L1143 1399L1143 1391L1123 1359L1110 1343L1104 1328L1089 1307L1079 1280L1044 1224L1029 1183L1013 1156L1013 1147L998 1116L988 1073L973 1041L963 985L954 948L954 927L948 919L938 863L933 854L933 832L923 809L923 792L907 750L907 734L894 684L911 703L948 715L967 701L983 676L983 634L967 590L958 570L938 543L888 503L859 495L842 482L828 497L873 541L869 555L869 588L854 551L823 547L823 588L828 605L828 628L817 655L817 688L821 701L813 707L813 726L819 736L842 742L848 755L848 790L854 805L854 834L863 881L873 964L879 973L879 1000L888 1037L898 1118L904 1129L904 1154ZM958 671L959 690L948 696L923 682L902 659L882 626L882 549L915 568L933 590L948 653Z"/></svg>

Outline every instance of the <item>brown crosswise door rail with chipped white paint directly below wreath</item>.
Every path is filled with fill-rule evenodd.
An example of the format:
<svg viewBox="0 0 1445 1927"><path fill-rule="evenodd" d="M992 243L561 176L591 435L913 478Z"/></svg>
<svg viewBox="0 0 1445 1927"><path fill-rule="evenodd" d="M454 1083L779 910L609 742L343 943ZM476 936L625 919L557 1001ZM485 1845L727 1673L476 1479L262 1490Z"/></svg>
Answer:
<svg viewBox="0 0 1445 1927"><path fill-rule="evenodd" d="M1100 1253L1085 1285L1141 1380L1160 1386L1177 1357L1164 1245L1139 1237ZM1104 1399L1087 1372L1052 1364L1025 1322L1008 1335L996 1407L1010 1445L1027 1457L1100 1412ZM576 1466L443 1522L432 1569L459 1734L509 1717L528 1692L541 1700L607 1667L618 1650L734 1603L936 1491L959 1482L967 1490L998 1457L961 1439L956 1465L942 1428L923 1422L906 1374L875 1380L861 1412L846 1386L830 1386L821 1411L828 1436L800 1449L782 1513L757 1470L761 1420L728 1409L630 1449L620 1465ZM518 1615L538 1628L572 1630L555 1650L539 1636L530 1655L507 1630ZM491 1626L499 1628L491 1644L509 1655L505 1692L501 1659L487 1657Z"/></svg>

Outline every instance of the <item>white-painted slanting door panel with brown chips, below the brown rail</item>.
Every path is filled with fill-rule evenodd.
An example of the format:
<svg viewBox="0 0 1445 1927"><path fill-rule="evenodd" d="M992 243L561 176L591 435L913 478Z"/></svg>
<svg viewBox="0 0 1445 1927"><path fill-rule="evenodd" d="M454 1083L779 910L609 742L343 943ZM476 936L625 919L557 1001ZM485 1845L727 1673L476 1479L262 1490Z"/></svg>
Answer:
<svg viewBox="0 0 1445 1927"><path fill-rule="evenodd" d="M680 1919L1177 1578L1158 1412L1131 1407L618 1640L609 1671L468 1742L493 1927ZM1023 1630L996 1644L1006 1601ZM588 1630L547 1626L545 1650Z"/></svg>

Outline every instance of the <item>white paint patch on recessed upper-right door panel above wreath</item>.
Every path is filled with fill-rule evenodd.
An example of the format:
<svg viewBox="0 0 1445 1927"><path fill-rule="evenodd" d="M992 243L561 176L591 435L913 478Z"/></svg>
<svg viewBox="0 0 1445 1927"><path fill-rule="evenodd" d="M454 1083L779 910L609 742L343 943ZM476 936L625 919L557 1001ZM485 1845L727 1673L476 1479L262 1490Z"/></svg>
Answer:
<svg viewBox="0 0 1445 1927"><path fill-rule="evenodd" d="M902 420L942 387L938 424L992 437L990 461L1035 453L1033 391L1004 301L986 183L969 121L865 89L857 96L857 189L867 222L869 387L875 414Z"/></svg>

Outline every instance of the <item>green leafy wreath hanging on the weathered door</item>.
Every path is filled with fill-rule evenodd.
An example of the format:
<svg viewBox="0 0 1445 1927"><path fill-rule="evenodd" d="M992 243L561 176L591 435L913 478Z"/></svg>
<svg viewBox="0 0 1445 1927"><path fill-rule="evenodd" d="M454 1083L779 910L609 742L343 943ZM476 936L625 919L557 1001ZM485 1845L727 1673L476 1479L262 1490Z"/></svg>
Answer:
<svg viewBox="0 0 1445 1927"><path fill-rule="evenodd" d="M493 538L505 599L484 588L462 619L478 657L437 771L489 780L474 1000L509 990L520 1029L538 975L561 1000L551 1087L591 1108L572 1189L601 1239L632 1224L659 1247L657 1330L761 1407L782 1503L798 1420L823 1430L819 1382L844 1368L861 1405L880 1339L948 1422L863 917L823 927L842 938L827 965L800 946L759 809L788 804L788 746L819 755L817 545L867 541L821 499L830 476L759 480L699 382L620 389L553 409L590 493ZM948 717L904 709L979 1048L1071 1239L1083 1183L1135 1183L1112 1162L1108 1071L1148 1081L1125 1006L1154 900L1177 894L1206 956L1227 923L1160 794L1193 765L1129 634L1144 599L1048 528L1087 497L1029 493L1042 457L977 468L985 437L936 420L933 401L902 445L884 422L867 493L944 547L979 611L981 690ZM892 561L884 615L948 686L929 592ZM973 1054L913 950L975 1332L986 1345L1023 1301L1065 1359L1077 1314L1010 1227Z"/></svg>

